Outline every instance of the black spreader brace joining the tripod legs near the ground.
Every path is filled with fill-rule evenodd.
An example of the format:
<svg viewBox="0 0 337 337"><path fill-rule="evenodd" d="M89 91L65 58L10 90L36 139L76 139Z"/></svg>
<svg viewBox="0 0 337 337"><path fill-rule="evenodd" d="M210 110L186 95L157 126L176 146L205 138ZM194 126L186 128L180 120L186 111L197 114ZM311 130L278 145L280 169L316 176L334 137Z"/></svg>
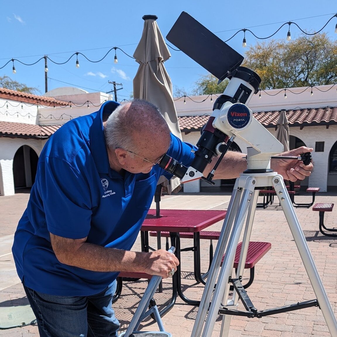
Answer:
<svg viewBox="0 0 337 337"><path fill-rule="evenodd" d="M244 289L241 280L238 278L233 278L231 279L231 282L233 283L235 291L238 293L239 298L246 308L246 311L240 311L240 310L232 310L232 309L227 309L225 307L219 309L219 314L222 315L234 315L234 316L246 316L248 318L261 318L264 316L269 316L269 315L275 315L280 312L288 312L288 311L294 311L294 310L299 310L303 308L309 308L309 307L319 307L317 300L310 300L310 301L305 301L305 302L297 302L294 304L290 305L285 305L283 307L277 307L277 308L271 308L267 310L260 310L258 311L253 303L251 302L246 290Z"/></svg>

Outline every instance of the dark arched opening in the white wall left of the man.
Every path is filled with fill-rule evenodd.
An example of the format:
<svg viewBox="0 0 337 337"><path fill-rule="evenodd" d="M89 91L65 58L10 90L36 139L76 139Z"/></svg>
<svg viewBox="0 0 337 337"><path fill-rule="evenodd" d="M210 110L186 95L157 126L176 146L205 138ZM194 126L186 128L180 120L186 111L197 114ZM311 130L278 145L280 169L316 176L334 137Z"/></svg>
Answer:
<svg viewBox="0 0 337 337"><path fill-rule="evenodd" d="M21 146L13 159L14 188L32 187L35 182L38 156L28 145Z"/></svg>

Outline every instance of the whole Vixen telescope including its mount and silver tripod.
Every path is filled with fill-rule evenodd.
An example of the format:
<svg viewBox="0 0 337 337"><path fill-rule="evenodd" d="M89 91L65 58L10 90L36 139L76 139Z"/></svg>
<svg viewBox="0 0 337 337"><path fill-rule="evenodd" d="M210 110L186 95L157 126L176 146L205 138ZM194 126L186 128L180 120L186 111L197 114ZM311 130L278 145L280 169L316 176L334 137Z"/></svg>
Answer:
<svg viewBox="0 0 337 337"><path fill-rule="evenodd" d="M232 315L259 318L312 306L319 307L331 336L337 336L336 317L319 278L283 177L270 168L271 158L302 160L308 165L311 161L310 152L298 157L276 156L283 152L283 145L253 117L252 111L246 105L252 95L258 92L261 79L254 71L240 66L244 58L239 53L186 12L181 13L166 37L216 76L219 79L218 83L226 78L229 79L229 83L215 101L213 112L202 128L197 150L193 150L194 159L191 166L186 167L165 155L159 164L160 167L178 176L181 182L202 178L212 184L215 170L234 139L239 137L249 144L245 155L247 169L236 179L191 337L211 337L219 315L222 320L219 336L228 337ZM214 157L217 157L217 162L205 178L203 172ZM207 171L209 172L209 168ZM316 299L257 310L241 281L259 191L265 186L274 188ZM241 234L243 238L238 268L235 277L232 277ZM234 289L233 295L229 294L231 284ZM245 310L238 310L239 299Z"/></svg>

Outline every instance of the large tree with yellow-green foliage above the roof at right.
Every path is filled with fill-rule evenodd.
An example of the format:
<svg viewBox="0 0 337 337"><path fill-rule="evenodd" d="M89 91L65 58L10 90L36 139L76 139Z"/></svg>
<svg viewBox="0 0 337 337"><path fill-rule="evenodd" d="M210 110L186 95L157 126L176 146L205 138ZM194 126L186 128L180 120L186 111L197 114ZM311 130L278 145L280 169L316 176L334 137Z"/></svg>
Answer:
<svg viewBox="0 0 337 337"><path fill-rule="evenodd" d="M334 84L337 80L337 41L327 34L296 40L256 43L246 52L243 66L261 77L260 89Z"/></svg>

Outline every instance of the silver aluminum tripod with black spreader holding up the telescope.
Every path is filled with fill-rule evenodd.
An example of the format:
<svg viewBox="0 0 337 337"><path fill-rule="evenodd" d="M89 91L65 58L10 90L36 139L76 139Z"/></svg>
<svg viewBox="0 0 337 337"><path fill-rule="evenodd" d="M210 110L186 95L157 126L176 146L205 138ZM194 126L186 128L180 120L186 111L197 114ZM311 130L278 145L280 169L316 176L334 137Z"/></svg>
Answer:
<svg viewBox="0 0 337 337"><path fill-rule="evenodd" d="M258 172L258 170L256 171ZM259 190L265 186L273 186L275 189L316 295L316 299L258 311L253 306L253 303L243 288L241 279L246 261ZM235 252L243 229L244 233L240 259L236 278L233 279L232 272ZM223 254L223 263L220 268ZM230 285L233 285L234 292L232 298L228 299ZM242 301L246 311L237 310L239 299ZM222 303L226 303L226 305L223 305ZM259 318L262 316L298 310L311 306L319 306L331 336L337 336L336 317L334 316L323 283L318 275L299 220L284 185L283 177L278 175L276 172L254 173L254 170L250 170L249 173L241 174L240 178L236 180L231 201L228 205L226 218L221 229L221 234L216 246L213 262L209 271L191 337L211 337L218 315L223 315L220 337L227 337L232 315Z"/></svg>

